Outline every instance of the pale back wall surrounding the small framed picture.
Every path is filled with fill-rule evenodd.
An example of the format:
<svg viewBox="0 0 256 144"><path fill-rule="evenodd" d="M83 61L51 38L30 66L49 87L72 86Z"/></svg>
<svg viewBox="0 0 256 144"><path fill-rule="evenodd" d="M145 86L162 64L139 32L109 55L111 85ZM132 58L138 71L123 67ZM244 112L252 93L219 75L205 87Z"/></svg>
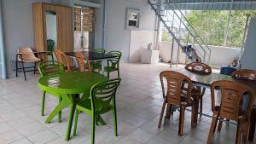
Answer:
<svg viewBox="0 0 256 144"><path fill-rule="evenodd" d="M125 29L126 9L140 9L140 29L154 30L155 14L147 0L105 0L106 26L104 47L108 50L119 50L123 53L122 60L128 60L130 48L130 30ZM102 25L96 10L96 46L102 40ZM102 16L102 15L101 15ZM145 36L147 37L147 36Z"/></svg>

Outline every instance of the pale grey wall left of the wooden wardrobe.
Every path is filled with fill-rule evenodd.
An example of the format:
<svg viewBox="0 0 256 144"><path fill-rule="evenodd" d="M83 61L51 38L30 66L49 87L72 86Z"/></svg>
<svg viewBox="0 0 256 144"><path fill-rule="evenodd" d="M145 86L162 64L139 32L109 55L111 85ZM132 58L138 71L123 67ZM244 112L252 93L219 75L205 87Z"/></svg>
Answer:
<svg viewBox="0 0 256 144"><path fill-rule="evenodd" d="M10 61L15 60L15 52L20 47L34 46L32 3L50 3L51 0L3 0L3 30L5 56L8 75Z"/></svg>

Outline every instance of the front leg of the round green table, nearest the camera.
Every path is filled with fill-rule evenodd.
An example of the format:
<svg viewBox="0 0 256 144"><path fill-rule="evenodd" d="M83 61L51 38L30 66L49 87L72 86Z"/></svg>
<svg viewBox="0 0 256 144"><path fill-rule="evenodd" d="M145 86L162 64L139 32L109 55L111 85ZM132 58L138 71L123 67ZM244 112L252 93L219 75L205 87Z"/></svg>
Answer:
<svg viewBox="0 0 256 144"><path fill-rule="evenodd" d="M76 97L77 95L69 95L69 99L70 99L70 112L69 112L69 116L68 116L68 122L67 122L67 132L66 132L66 136L65 136L65 140L68 141L70 139L70 133L72 130L72 124L73 124L73 116L74 116L74 112L76 110Z"/></svg>

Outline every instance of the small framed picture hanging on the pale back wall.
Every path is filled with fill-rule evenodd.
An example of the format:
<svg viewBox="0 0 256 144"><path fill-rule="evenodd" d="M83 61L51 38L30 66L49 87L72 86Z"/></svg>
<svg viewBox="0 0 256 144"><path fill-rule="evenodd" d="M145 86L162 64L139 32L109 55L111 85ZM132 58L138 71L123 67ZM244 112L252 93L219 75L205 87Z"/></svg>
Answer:
<svg viewBox="0 0 256 144"><path fill-rule="evenodd" d="M126 9L126 29L138 29L140 27L140 10Z"/></svg>

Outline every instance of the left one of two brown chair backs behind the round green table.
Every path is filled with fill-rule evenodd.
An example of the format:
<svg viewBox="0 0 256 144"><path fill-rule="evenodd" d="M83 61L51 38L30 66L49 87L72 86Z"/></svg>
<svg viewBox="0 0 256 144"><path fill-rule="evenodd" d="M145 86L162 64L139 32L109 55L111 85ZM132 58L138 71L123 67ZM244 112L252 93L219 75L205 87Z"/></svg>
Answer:
<svg viewBox="0 0 256 144"><path fill-rule="evenodd" d="M61 64L63 64L66 71L78 71L78 69L75 66L71 66L71 62L67 58L67 55L65 55L65 53L63 53L59 49L55 49L54 53L56 55L57 60L61 62Z"/></svg>

